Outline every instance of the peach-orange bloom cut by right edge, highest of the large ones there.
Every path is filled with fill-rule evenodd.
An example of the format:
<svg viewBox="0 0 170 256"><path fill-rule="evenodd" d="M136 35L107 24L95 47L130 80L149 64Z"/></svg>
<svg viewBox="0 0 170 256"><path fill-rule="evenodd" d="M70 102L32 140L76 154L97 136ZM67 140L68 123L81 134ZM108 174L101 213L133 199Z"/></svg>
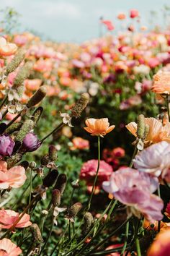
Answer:
<svg viewBox="0 0 170 256"><path fill-rule="evenodd" d="M158 94L169 94L170 93L170 72L158 71L153 76L152 90Z"/></svg>

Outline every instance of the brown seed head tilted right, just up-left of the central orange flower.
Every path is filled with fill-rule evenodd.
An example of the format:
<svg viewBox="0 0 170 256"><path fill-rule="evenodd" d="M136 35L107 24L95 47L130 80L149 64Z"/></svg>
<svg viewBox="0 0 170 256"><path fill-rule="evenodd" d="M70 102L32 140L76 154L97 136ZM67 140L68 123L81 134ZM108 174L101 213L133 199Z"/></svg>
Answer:
<svg viewBox="0 0 170 256"><path fill-rule="evenodd" d="M79 101L71 108L71 117L81 116L81 112L86 108L89 103L89 93L81 94Z"/></svg>

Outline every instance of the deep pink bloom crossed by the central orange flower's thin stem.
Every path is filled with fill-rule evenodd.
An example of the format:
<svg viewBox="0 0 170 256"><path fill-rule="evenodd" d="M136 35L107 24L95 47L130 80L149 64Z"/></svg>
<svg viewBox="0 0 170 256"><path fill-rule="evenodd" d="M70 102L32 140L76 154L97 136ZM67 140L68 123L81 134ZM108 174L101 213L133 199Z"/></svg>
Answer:
<svg viewBox="0 0 170 256"><path fill-rule="evenodd" d="M91 159L81 167L80 179L84 179L88 185L92 185L94 182L94 177L97 173L97 163L96 159ZM105 161L100 161L97 186L101 186L102 182L108 181L111 174L112 166Z"/></svg>

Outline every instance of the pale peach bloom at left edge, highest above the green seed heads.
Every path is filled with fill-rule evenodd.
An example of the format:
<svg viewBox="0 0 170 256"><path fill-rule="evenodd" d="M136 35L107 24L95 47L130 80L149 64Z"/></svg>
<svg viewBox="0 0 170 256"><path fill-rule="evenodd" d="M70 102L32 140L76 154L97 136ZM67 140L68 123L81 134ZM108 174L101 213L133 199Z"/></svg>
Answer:
<svg viewBox="0 0 170 256"><path fill-rule="evenodd" d="M0 56L11 56L17 51L14 43L7 43L5 38L0 37Z"/></svg>

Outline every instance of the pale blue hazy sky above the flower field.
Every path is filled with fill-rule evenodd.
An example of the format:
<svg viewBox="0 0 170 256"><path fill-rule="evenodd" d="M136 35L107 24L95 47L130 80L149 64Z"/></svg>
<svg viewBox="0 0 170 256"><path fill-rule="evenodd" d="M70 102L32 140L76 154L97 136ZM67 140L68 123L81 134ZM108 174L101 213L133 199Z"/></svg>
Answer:
<svg viewBox="0 0 170 256"><path fill-rule="evenodd" d="M99 36L99 17L112 20L120 29L119 12L138 9L142 25L158 22L163 25L162 9L169 0L0 0L1 9L13 7L21 30L34 30L45 39L76 42ZM150 11L158 12L151 21ZM128 24L128 22L127 22Z"/></svg>

